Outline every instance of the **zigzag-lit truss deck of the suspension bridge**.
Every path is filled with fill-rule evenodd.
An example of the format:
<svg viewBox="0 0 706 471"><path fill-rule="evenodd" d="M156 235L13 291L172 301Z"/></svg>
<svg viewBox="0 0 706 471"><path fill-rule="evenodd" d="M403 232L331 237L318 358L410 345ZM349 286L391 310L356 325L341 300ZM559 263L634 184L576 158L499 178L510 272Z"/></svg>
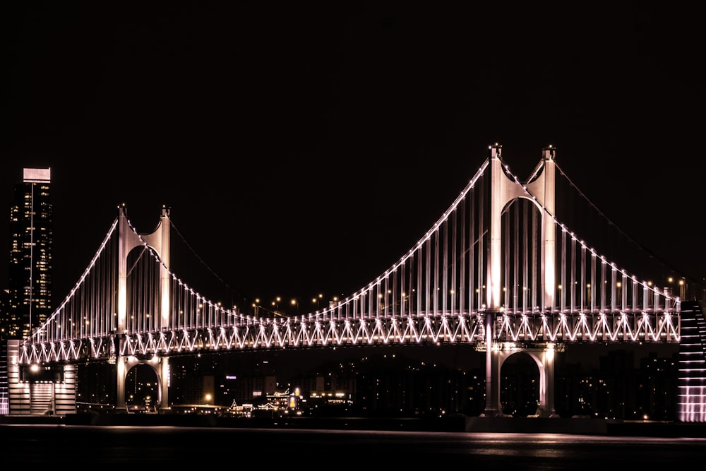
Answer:
<svg viewBox="0 0 706 471"><path fill-rule="evenodd" d="M486 316L493 317L496 344L573 342L678 343L678 318L668 311L616 313L433 314L341 317L328 314L294 318L246 318L225 326L162 329L89 339L22 345L20 362L106 361L116 355L193 354L218 350L472 343L486 346Z"/></svg>

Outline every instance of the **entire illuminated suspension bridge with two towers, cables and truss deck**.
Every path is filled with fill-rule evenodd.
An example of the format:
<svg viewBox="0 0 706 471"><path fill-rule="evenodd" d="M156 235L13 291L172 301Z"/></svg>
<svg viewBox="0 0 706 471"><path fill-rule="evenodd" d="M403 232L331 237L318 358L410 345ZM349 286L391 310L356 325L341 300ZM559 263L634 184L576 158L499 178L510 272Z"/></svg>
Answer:
<svg viewBox="0 0 706 471"><path fill-rule="evenodd" d="M160 382L157 403L168 408L175 355L465 343L485 352L484 415L500 414L501 367L523 352L539 369L539 413L552 417L554 354L577 342L656 342L679 345L679 419L703 422L702 293L650 266L653 258L615 225L597 217L597 229L597 220L578 208L585 200L568 196L582 196L576 190L554 148L545 148L534 172L520 180L501 146L491 146L467 186L407 253L357 292L297 316L258 315L263 311L187 284L172 263L169 210L162 208L153 232L140 233L119 207L61 305L29 338L8 345L5 413L41 413L49 400L56 414L74 412L76 368L85 362L115 364L118 408L125 407L128 371L152 366ZM23 381L31 364L52 366L61 381Z"/></svg>

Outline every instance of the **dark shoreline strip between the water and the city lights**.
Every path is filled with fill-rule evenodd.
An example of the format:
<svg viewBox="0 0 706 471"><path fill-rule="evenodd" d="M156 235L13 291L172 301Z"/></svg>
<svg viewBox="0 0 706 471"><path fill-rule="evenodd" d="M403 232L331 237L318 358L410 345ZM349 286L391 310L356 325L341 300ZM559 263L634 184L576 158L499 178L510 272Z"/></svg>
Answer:
<svg viewBox="0 0 706 471"><path fill-rule="evenodd" d="M225 427L274 429L340 429L448 431L520 434L706 438L704 422L626 422L568 417L222 417L189 414L97 414L0 416L0 424L139 427Z"/></svg>

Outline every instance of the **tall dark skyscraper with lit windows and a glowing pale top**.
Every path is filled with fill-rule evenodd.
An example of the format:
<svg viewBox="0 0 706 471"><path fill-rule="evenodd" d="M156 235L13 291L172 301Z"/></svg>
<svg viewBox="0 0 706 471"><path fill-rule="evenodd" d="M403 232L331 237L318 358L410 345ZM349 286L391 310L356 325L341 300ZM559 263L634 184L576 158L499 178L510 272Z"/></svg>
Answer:
<svg viewBox="0 0 706 471"><path fill-rule="evenodd" d="M4 338L21 339L52 311L51 169L23 169L10 208L10 264Z"/></svg>

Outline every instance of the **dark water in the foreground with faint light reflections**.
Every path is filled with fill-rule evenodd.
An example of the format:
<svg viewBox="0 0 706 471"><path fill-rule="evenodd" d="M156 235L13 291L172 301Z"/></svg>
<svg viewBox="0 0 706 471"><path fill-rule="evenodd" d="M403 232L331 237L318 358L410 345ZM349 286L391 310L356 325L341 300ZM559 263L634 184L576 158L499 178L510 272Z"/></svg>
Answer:
<svg viewBox="0 0 706 471"><path fill-rule="evenodd" d="M693 437L66 424L0 424L0 431L5 465L600 471L706 460L706 439Z"/></svg>

